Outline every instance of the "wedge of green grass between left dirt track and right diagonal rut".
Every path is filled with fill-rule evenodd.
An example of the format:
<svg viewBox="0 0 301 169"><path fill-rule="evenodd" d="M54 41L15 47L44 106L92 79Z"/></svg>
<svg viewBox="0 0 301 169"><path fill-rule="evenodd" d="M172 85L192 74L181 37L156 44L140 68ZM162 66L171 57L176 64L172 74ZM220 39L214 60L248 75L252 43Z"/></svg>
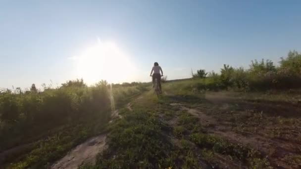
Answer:
<svg viewBox="0 0 301 169"><path fill-rule="evenodd" d="M229 158L229 163L270 167L261 152L208 134L197 117L171 106L169 99L156 99L148 92L133 103L133 111L122 109L123 118L108 129L108 149L100 154L96 166L82 168L223 167L216 159L218 154ZM175 126L169 125L171 121L176 121Z"/></svg>

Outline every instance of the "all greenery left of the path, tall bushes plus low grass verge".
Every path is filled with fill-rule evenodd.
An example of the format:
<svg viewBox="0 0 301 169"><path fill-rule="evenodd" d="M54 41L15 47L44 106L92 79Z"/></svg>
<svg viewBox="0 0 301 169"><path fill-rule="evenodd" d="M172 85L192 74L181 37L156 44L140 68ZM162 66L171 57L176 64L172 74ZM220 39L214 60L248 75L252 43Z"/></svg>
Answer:
<svg viewBox="0 0 301 169"><path fill-rule="evenodd" d="M125 105L148 86L110 89L105 82L91 87L78 83L71 81L43 92L0 94L0 168L50 167L76 145L103 132L112 109ZM15 116L3 116L5 111Z"/></svg>

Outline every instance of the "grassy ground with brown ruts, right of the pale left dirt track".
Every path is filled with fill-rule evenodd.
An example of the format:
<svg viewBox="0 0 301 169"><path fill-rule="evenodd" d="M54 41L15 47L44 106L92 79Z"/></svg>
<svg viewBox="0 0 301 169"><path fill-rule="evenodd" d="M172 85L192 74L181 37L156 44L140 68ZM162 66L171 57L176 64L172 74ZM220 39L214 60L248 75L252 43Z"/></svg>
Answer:
<svg viewBox="0 0 301 169"><path fill-rule="evenodd" d="M301 167L300 91L196 90L202 80L163 85L120 110L99 168Z"/></svg>

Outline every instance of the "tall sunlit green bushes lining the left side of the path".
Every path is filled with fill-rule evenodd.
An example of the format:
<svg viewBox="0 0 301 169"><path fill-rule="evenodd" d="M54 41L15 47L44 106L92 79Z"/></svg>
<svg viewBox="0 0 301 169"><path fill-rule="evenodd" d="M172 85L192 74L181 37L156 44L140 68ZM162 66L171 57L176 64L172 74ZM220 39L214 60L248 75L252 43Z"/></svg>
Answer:
<svg viewBox="0 0 301 169"><path fill-rule="evenodd" d="M46 86L46 85L45 85ZM146 84L112 88L115 105L146 90ZM45 87L39 91L35 85L29 91L3 90L0 93L0 150L16 146L24 139L43 134L66 124L108 121L111 112L111 91L106 81L88 87L83 80L68 81L61 87ZM112 103L112 104L114 104Z"/></svg>

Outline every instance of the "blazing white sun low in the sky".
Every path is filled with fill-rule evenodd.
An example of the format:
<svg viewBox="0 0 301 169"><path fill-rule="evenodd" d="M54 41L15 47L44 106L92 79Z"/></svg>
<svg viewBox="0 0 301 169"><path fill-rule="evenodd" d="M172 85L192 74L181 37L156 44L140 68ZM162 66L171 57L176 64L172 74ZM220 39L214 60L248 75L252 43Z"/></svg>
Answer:
<svg viewBox="0 0 301 169"><path fill-rule="evenodd" d="M88 84L130 82L135 68L125 52L114 42L98 42L76 58L77 74Z"/></svg>

